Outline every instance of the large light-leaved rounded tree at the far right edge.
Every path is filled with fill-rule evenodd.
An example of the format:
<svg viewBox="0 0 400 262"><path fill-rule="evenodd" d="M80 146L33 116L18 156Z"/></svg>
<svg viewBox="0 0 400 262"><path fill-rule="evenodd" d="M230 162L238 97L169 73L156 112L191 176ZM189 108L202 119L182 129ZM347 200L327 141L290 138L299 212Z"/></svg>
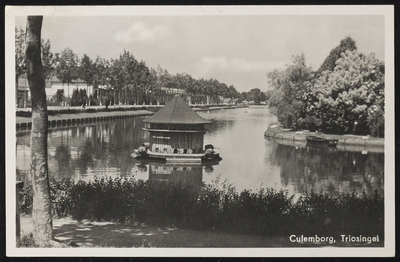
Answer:
<svg viewBox="0 0 400 262"><path fill-rule="evenodd" d="M335 133L383 136L384 64L373 54L346 51L333 72L315 80L307 112Z"/></svg>

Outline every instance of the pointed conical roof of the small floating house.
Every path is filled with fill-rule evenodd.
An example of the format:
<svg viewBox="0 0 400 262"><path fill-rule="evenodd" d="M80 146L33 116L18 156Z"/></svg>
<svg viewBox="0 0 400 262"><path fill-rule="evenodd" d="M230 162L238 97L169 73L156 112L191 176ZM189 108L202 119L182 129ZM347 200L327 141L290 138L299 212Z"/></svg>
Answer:
<svg viewBox="0 0 400 262"><path fill-rule="evenodd" d="M143 120L157 124L211 124L212 121L199 116L182 97L175 95L160 111Z"/></svg>

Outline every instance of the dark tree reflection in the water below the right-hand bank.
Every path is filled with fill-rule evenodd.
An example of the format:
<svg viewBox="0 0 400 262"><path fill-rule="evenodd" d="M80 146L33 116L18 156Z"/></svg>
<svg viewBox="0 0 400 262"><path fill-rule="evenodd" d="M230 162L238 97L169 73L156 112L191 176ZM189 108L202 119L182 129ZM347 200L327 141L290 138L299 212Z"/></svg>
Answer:
<svg viewBox="0 0 400 262"><path fill-rule="evenodd" d="M276 142L269 144L272 164L281 167L283 185L297 193L321 191L383 194L384 155L380 153L335 151L329 148L296 148Z"/></svg>

